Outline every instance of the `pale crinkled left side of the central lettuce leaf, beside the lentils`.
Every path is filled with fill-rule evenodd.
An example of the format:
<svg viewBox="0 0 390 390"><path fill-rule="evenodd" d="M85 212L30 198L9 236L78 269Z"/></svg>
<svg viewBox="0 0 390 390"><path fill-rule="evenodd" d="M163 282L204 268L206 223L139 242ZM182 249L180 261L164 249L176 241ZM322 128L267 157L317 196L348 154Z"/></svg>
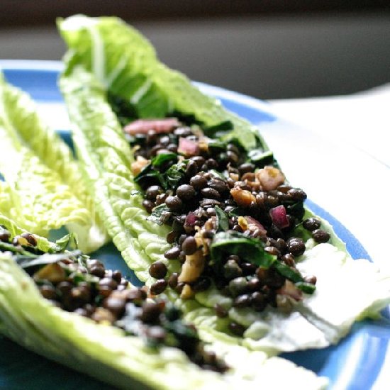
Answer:
<svg viewBox="0 0 390 390"><path fill-rule="evenodd" d="M146 219L142 195L130 172L132 153L101 84L91 73L76 67L62 76L60 87L72 118L80 168L96 210L123 259L146 281L149 265L157 260L151 255L155 246L162 250L159 258L169 248L165 241L169 230L167 226L150 226Z"/></svg>

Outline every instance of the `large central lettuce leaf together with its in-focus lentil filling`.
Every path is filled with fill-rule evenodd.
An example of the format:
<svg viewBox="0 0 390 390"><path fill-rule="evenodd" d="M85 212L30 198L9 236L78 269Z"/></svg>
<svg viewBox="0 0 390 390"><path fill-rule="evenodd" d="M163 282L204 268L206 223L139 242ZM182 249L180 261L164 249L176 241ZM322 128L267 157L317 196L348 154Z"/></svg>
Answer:
<svg viewBox="0 0 390 390"><path fill-rule="evenodd" d="M358 280L362 276L360 273L366 262L353 262L345 251L345 245L338 240L330 225L326 221L320 221L307 208L302 207L306 194L285 182L281 170L273 160L272 152L268 150L254 126L226 111L210 96L201 94L184 75L162 65L150 43L118 19L74 16L60 21L59 26L63 38L69 45L60 87L74 126L72 136L81 166L84 167L84 177L89 183L91 194L97 199L96 205L100 207L101 218L109 221L108 231L129 267L148 286L152 285L156 294L164 291L169 299L181 306L186 318L198 326L202 338L235 342L250 349L264 350L269 354L308 347L320 348L338 342L356 318L369 316L371 310L376 311L374 302L381 301L386 305L385 297L389 295L386 276L377 274L374 268L368 271L368 274L377 298L371 296L369 300L355 301L349 294L359 289ZM158 123L155 123L152 129L147 128L148 123L145 121L147 118L157 118ZM126 120L123 122L127 126L126 133L131 136L130 143L138 145L138 141L140 142L133 151L119 123L123 119ZM161 135L159 133L164 133L165 121L169 123L172 132ZM137 131L137 128L142 130ZM155 139L150 141L152 145L150 149L143 147L147 144L148 130L154 130L149 135ZM189 134L182 137L174 134L175 130ZM208 150L206 155L201 155L201 147L204 145L199 135L201 138L204 136L210 138L211 140L206 143L213 144L211 149L215 147L216 153L220 153L220 157L223 154L223 158L216 159L212 155L207 155ZM172 142L175 137L177 143ZM157 139L158 143L155 143ZM241 148L241 151L237 154L234 147L239 151ZM180 153L181 150L184 153ZM194 151L199 154L191 156ZM177 152L181 157L177 157ZM139 155L134 155L137 153ZM236 166L232 166L228 161L228 155L237 160ZM191 157L198 160L201 157L205 161L200 160L199 166L196 159L191 160ZM250 161L240 161L240 157L244 160L249 157ZM210 167L206 164L208 160ZM226 174L218 170L221 169L220 162L225 164L222 171L225 170ZM243 171L247 167L242 165L247 163L255 165L255 172ZM259 167L256 167L256 163ZM172 166L163 169L165 164ZM187 165L190 172L186 172ZM243 173L240 173L238 167L241 167ZM91 169L94 174L90 174ZM228 172L229 169L231 172ZM237 169L238 173L234 169ZM270 194L265 188L267 185L265 182L267 177L274 175L269 172L274 172L277 177L283 177L276 186L269 188L269 191L274 191ZM245 183L246 177L244 180L238 180L241 183L237 187L235 184L230 187L229 179L235 181L230 174L238 175L234 177L235 179L242 179L241 176L245 174L248 177L255 174L255 179L251 177L248 181L257 182L255 184L257 191L245 187L248 185ZM193 179L195 176L201 176L203 179L197 177L196 184ZM181 180L183 182L180 182ZM202 184L199 186L201 182L204 184L206 182L204 188L201 188ZM184 187L179 189L180 186ZM225 194L229 195L223 198L217 187L222 194L225 191ZM101 188L104 188L104 194L101 194ZM207 189L206 193L202 194L202 189ZM267 199L270 198L268 205L262 199L264 194L260 194L264 193L264 189L267 192ZM257 196L260 205L257 204ZM291 198L287 200L290 196ZM231 202L232 199L235 203L224 203ZM248 211L233 215L231 210L228 212L225 210L228 206L239 209L252 204L256 208L255 213L260 213L262 200L265 207L262 210L264 216L261 218L254 214L255 218ZM191 202L194 201L198 202L199 207L196 204L191 209L190 207L194 206ZM291 201L297 204L296 209L293 208L292 211L289 209L287 212ZM195 214L197 208L201 210ZM207 215L208 208L210 215ZM216 215L212 215L213 213ZM186 214L185 218L182 217L183 214ZM169 219L172 227L165 224ZM203 222L199 223L202 219ZM204 232L201 232L208 220L210 228L204 230L214 230L211 234L206 233L206 236L213 235L212 238L204 238ZM225 226L222 231L218 231L220 223ZM176 225L179 225L179 235ZM233 230L235 225L238 227ZM264 240L250 237L251 229L247 228L249 225L255 225L256 228L253 230L257 229L256 235L260 235ZM279 232L272 225L284 234L278 236ZM189 229L188 233L186 228ZM268 235L261 233L267 228ZM184 232L180 229L184 229ZM238 229L247 233L237 231ZM199 236L196 236L198 233ZM213 243L216 237L220 241ZM182 263L186 264L187 257L190 257L189 263L197 264L199 260L191 257L196 252L192 255L186 255L184 252L182 244L187 238L189 242L184 247L186 248L187 244L189 247L186 251L191 253L191 250L195 249L195 240L196 252L201 252L198 249L200 247L202 250L203 247L206 250L210 249L211 257L218 259L217 261L211 259L211 262L222 264L222 268L226 265L226 269L220 269L216 273L212 268L206 267L210 263L205 265L205 262L201 261L199 267L189 267L200 269L194 280L180 281L179 275L182 275L183 269L186 268L184 265L182 267ZM199 243L197 238L212 241L210 245L209 243L204 245ZM240 245L245 242L243 253L226 253L227 248L232 250L240 247L230 245L238 242ZM176 244L173 250L172 243ZM306 250L303 251L304 247ZM256 256L252 256L252 264L243 266L244 263L250 263L245 258L247 248L254 250L259 264L255 262ZM254 252L251 252L251 255ZM239 258L228 259L229 255ZM286 257L282 260L284 255ZM292 259L290 255L296 258ZM330 273L332 267L329 269L323 267L324 256L328 257L326 260L328 264L333 264L333 273ZM272 270L271 265L276 272ZM244 274L245 267L247 269L252 267L250 271L252 273ZM261 270L262 267L266 269L265 272ZM340 311L329 313L327 296L333 294L331 289L343 289L339 275L350 272L350 267L354 269L355 275L353 282L351 281L351 289L339 299ZM364 272L366 271L367 269ZM241 272L243 276L238 276ZM192 271L189 273L192 277ZM214 277L211 277L212 274ZM335 274L338 277L335 277ZM229 277L232 275L234 277L230 280ZM255 279L253 282L255 286L256 279L264 278L260 282L263 284L260 289L263 287L265 289L249 291L247 277ZM216 286L220 280L224 285ZM267 283L264 283L264 280L267 280ZM339 283L337 286L334 284L335 280ZM381 282L377 284L379 280ZM194 291L193 285L198 282L201 290L207 284L208 288L204 291ZM272 289L269 289L269 282L274 284ZM319 284L321 288L318 288ZM218 290L218 287L221 289ZM197 288L199 286L196 286ZM248 293L251 294L249 298ZM255 299L252 294L255 294ZM267 296L266 299L264 295ZM352 306L349 304L350 299L354 301ZM258 306L256 307L255 303L255 307L252 307L252 302L258 303Z"/></svg>

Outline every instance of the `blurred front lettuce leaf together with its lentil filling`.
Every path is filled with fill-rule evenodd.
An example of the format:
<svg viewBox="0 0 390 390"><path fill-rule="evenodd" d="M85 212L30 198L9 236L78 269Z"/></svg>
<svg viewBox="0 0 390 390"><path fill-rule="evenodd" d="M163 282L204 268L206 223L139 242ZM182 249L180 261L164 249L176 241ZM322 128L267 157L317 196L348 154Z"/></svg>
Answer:
<svg viewBox="0 0 390 390"><path fill-rule="evenodd" d="M65 250L72 235L50 243L4 216L0 222L1 331L12 340L121 389L252 386L255 372L230 369L223 362L229 354L206 349L172 304L130 286L99 260ZM253 357L260 366L267 362ZM291 380L325 384L284 360L273 364Z"/></svg>

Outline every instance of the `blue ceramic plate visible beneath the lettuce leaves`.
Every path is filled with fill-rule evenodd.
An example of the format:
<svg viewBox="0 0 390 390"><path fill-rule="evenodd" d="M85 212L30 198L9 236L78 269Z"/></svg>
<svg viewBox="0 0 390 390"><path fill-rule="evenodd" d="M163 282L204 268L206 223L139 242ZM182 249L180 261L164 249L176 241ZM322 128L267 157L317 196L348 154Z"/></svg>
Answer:
<svg viewBox="0 0 390 390"><path fill-rule="evenodd" d="M48 61L0 61L6 79L11 84L30 93L38 104L62 104L57 89L60 62ZM207 94L221 99L226 108L247 118L252 123L277 121L269 113L267 104L248 96L226 91L206 84L198 84ZM66 126L57 130L69 142ZM338 236L347 243L347 250L355 259L369 258L369 254L356 238L323 208L307 201L314 213L327 219ZM96 257L102 258L110 268L121 269L135 282L126 264L113 245L104 247ZM387 313L381 321L363 321L352 328L352 332L339 345L323 350L306 350L283 356L330 379L330 389L390 389L389 335L390 325ZM387 317L387 318L386 318ZM43 357L28 352L13 342L0 338L0 389L96 389L101 383L70 369L55 364ZM387 358L386 358L387 357ZM105 389L108 387L105 385Z"/></svg>

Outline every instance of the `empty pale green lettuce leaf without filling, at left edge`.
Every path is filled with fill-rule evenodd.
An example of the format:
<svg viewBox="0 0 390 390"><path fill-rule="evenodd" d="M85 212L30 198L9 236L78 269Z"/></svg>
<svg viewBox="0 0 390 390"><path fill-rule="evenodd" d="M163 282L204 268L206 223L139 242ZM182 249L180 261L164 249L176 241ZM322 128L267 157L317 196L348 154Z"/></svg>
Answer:
<svg viewBox="0 0 390 390"><path fill-rule="evenodd" d="M66 225L85 252L106 241L69 147L40 121L27 94L0 76L0 209L38 235ZM8 208L8 210L7 210Z"/></svg>

